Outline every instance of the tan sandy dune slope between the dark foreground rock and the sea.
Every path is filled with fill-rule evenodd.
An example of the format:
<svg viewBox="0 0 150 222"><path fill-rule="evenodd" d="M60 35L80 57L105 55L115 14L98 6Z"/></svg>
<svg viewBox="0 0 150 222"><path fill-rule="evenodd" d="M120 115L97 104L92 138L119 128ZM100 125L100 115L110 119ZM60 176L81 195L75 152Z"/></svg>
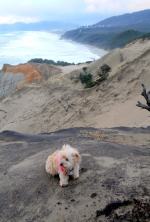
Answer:
<svg viewBox="0 0 150 222"><path fill-rule="evenodd" d="M148 126L149 113L136 103L141 100L141 83L150 88L149 61L149 40L115 49L85 64L93 78L102 64L112 70L106 81L91 89L85 89L79 81L80 66L60 67L61 72L49 75L47 81L26 84L22 90L1 98L0 128L41 133L80 126ZM45 76L47 71L39 70Z"/></svg>

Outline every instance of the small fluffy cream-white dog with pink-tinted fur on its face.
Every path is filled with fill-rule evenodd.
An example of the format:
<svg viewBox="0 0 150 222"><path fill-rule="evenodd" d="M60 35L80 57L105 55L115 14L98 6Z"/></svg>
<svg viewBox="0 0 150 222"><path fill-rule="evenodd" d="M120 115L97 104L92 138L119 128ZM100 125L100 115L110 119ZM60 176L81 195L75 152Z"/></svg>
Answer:
<svg viewBox="0 0 150 222"><path fill-rule="evenodd" d="M45 169L52 176L59 175L60 186L67 186L69 175L73 174L74 179L79 177L80 162L78 150L66 144L48 156Z"/></svg>

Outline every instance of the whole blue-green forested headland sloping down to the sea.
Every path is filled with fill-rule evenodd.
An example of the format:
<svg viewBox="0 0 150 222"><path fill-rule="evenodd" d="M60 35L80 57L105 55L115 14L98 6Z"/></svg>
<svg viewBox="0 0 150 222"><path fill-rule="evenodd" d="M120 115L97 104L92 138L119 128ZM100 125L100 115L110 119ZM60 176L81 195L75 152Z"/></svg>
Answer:
<svg viewBox="0 0 150 222"><path fill-rule="evenodd" d="M123 47L150 32L150 10L105 19L88 27L66 32L62 37L104 49ZM149 37L149 35L148 35Z"/></svg>

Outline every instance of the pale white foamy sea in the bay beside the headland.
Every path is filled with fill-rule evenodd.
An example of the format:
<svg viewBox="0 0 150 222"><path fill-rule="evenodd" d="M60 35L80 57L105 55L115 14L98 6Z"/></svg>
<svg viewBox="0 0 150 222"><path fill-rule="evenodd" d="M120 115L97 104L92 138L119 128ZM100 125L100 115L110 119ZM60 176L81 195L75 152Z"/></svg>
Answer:
<svg viewBox="0 0 150 222"><path fill-rule="evenodd" d="M105 53L102 49L60 39L60 35L50 32L0 33L0 67L5 63L25 63L33 58L79 63L98 59Z"/></svg>

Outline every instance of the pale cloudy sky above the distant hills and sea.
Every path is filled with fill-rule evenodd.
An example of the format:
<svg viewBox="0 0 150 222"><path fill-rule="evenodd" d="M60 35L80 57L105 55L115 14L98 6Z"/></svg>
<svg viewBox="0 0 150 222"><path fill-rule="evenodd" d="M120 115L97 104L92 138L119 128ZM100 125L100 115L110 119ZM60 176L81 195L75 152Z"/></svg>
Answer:
<svg viewBox="0 0 150 222"><path fill-rule="evenodd" d="M143 9L150 9L150 0L0 0L0 23L63 20L88 24Z"/></svg>

